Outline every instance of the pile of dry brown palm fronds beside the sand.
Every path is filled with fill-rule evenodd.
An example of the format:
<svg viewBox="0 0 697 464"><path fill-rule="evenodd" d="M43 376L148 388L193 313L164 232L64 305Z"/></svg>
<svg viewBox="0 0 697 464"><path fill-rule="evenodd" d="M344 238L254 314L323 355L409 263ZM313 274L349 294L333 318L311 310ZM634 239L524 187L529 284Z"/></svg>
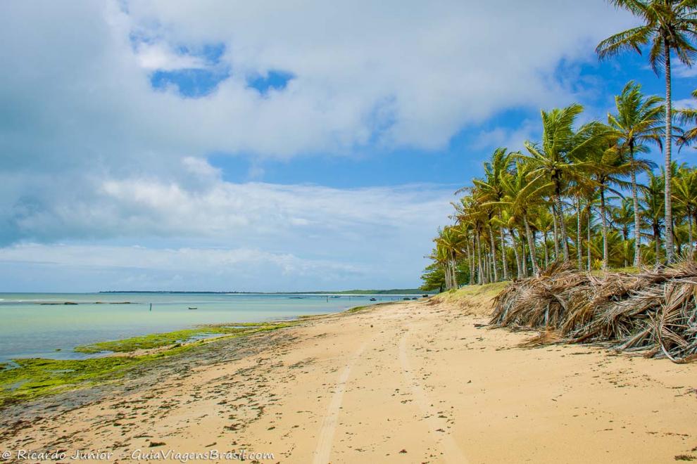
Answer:
<svg viewBox="0 0 697 464"><path fill-rule="evenodd" d="M494 299L491 325L540 330L540 343L601 343L677 363L697 359L697 263L641 273L552 264ZM552 335L551 335L552 334Z"/></svg>

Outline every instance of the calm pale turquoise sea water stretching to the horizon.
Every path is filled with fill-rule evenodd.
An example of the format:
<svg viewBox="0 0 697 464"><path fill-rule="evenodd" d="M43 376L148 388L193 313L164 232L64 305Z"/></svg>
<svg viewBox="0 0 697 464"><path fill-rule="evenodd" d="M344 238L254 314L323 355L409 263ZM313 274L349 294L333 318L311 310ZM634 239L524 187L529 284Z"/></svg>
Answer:
<svg viewBox="0 0 697 464"><path fill-rule="evenodd" d="M339 312L368 304L370 297L371 295L328 297L205 293L0 293L0 362L26 357L83 358L87 356L73 352L74 347L191 328L199 324L275 321L301 315ZM378 301L401 299L394 295L376 295L375 298ZM63 304L64 302L77 304ZM124 302L129 304L123 304Z"/></svg>

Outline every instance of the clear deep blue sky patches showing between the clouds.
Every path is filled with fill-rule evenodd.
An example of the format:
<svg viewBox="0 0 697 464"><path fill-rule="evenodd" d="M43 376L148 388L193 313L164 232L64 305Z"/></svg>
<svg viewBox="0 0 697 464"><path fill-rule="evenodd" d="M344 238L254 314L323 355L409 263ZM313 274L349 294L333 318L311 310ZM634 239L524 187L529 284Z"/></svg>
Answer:
<svg viewBox="0 0 697 464"><path fill-rule="evenodd" d="M672 91L674 100L682 105L691 101L691 92L697 88L697 79L689 75L691 70L685 70L678 65L677 77L674 77ZM685 73L687 72L687 76ZM215 76L206 79L208 87L204 93L213 91L225 77ZM200 81L193 81L186 73L171 75L182 95L191 95L200 89ZM270 72L268 77L257 77L249 81L249 86L260 92L269 88L283 89L289 80L290 73ZM636 53L626 53L623 56L609 60L589 60L583 63L560 63L553 74L558 82L572 82L579 93L572 101L582 101L587 107L588 115L605 120L608 111L613 110L614 97L619 94L629 80L641 84L646 94L665 94L663 73L659 75L648 67L644 56ZM200 90L198 90L200 91ZM694 103L697 104L697 101ZM547 108L548 109L548 108ZM291 161L287 160L256 160L253 155L237 153L210 153L209 162L222 169L223 177L231 182L244 182L250 179L263 178L272 183L318 183L322 185L347 188L357 186L389 186L403 183L450 183L460 186L474 174L481 172L482 162L491 154L491 149L499 145L501 139L494 135L498 131L516 131L526 121L531 124L529 135L531 140L539 138L536 131L539 124L539 110L535 108L511 107L501 110L493 117L471 124L453 134L445 147L438 150L414 149L379 149L375 147L355 150L350 156L334 156L331 153L318 155L316 153L300 154ZM491 138L487 141L487 136ZM504 143L505 145L505 143ZM522 149L518 145L511 147ZM660 153L653 150L653 156ZM691 163L691 150L676 153L676 159ZM658 158L657 158L658 160ZM474 169L474 172L472 172ZM255 174L255 172L259 172ZM263 172L263 174L260 174ZM472 174L464 174L472 173ZM349 174L349 175L347 175Z"/></svg>

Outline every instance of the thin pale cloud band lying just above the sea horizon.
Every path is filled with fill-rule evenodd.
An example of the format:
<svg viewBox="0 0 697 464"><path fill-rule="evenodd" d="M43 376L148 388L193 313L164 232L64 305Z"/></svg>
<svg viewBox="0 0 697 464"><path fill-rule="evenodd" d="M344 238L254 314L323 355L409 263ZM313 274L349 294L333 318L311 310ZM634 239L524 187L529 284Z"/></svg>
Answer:
<svg viewBox="0 0 697 464"><path fill-rule="evenodd" d="M0 291L18 291L27 276L5 275L31 269L76 276L72 291L96 290L252 290L273 291L306 285L329 289L338 282L369 283L384 278L379 269L251 248L145 248L113 245L43 245L27 243L0 248ZM136 279L133 277L137 276ZM273 279L269 279L273 276ZM56 279L51 279L55 281ZM53 290L50 285L44 289ZM36 288L28 288L36 290Z"/></svg>

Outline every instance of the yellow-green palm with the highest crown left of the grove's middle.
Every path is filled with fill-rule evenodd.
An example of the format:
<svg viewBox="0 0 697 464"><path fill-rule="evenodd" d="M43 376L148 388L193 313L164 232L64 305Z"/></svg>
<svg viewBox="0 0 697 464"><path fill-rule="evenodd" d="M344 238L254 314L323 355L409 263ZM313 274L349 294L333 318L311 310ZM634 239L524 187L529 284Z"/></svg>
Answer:
<svg viewBox="0 0 697 464"><path fill-rule="evenodd" d="M596 144L601 141L604 133L598 122L584 124L574 131L574 122L582 112L583 107L578 103L549 112L541 111L542 141L526 141L525 148L530 155L520 155L533 168L530 176L545 174L553 185L553 209L559 226L564 261L569 260L569 244L562 202L563 190L568 181L583 175L586 166L576 160L582 158L586 150L596 149Z"/></svg>

